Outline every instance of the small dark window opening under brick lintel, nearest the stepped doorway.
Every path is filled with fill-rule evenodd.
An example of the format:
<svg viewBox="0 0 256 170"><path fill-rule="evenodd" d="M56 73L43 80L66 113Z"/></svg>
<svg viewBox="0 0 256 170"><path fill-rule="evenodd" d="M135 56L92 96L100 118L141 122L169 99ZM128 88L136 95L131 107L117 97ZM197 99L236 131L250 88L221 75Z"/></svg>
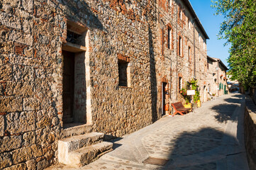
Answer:
<svg viewBox="0 0 256 170"><path fill-rule="evenodd" d="M118 60L119 86L128 86L128 62Z"/></svg>

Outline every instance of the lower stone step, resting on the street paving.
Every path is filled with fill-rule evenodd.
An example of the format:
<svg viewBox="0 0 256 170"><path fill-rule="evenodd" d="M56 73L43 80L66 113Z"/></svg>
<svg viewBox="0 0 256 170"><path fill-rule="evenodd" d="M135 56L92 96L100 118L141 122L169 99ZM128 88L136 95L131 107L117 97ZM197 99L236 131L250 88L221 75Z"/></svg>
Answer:
<svg viewBox="0 0 256 170"><path fill-rule="evenodd" d="M68 164L70 166L81 167L94 162L94 160L99 159L99 157L101 157L103 154L110 152L112 147L113 143L111 142L100 142L88 147L82 147L74 152L69 152L65 162L61 163Z"/></svg>

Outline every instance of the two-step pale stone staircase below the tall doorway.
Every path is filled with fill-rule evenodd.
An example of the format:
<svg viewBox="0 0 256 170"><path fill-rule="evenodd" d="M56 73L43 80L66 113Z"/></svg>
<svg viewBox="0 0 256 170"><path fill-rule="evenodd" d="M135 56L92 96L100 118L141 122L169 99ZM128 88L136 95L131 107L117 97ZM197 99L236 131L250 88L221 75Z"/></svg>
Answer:
<svg viewBox="0 0 256 170"><path fill-rule="evenodd" d="M112 150L111 142L103 142L104 133L91 132L58 141L58 159L62 164L81 167Z"/></svg>

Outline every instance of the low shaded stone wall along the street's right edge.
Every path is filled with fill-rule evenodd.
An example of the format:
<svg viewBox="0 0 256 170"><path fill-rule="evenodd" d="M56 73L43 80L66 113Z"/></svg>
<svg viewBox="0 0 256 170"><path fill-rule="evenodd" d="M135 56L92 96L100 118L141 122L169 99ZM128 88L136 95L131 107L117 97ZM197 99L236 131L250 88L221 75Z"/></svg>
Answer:
<svg viewBox="0 0 256 170"><path fill-rule="evenodd" d="M250 96L245 107L245 148L250 169L256 169L256 106Z"/></svg>

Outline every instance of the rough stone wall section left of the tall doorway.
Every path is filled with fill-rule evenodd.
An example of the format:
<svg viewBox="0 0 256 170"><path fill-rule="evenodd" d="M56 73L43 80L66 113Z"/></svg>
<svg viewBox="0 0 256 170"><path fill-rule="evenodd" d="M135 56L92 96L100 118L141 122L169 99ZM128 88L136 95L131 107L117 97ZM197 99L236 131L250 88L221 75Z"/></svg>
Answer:
<svg viewBox="0 0 256 170"><path fill-rule="evenodd" d="M0 169L55 162L64 18L47 1L0 1Z"/></svg>

